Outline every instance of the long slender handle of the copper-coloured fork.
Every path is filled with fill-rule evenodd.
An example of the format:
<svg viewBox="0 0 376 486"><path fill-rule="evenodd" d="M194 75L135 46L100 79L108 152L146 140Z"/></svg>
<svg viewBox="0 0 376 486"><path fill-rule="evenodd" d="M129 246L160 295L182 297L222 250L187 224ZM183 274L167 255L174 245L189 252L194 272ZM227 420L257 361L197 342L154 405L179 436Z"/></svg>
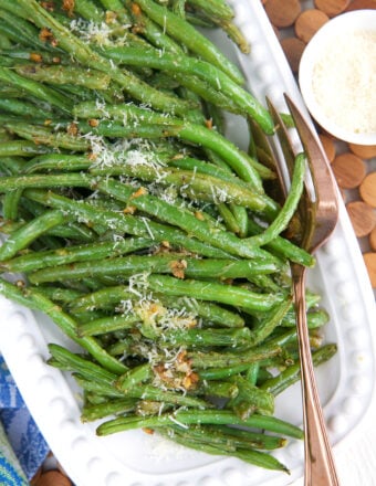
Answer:
<svg viewBox="0 0 376 486"><path fill-rule="evenodd" d="M306 323L305 275L305 267L296 264L292 265L305 431L304 485L338 486L340 482L335 469L331 444L327 437L312 363L310 336Z"/></svg>

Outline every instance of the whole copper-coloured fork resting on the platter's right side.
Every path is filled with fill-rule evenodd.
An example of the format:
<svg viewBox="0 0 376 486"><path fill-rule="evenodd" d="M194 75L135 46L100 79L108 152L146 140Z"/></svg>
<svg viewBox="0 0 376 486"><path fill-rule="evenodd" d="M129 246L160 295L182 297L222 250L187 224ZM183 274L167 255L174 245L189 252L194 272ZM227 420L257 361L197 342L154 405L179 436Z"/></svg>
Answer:
<svg viewBox="0 0 376 486"><path fill-rule="evenodd" d="M285 99L307 159L309 176L311 179L311 184L306 184L300 208L297 209L296 219L300 230L294 241L313 254L331 236L338 219L336 183L316 134L310 128L310 125L293 102L288 96L285 96ZM279 112L270 102L269 108L274 119L278 139L284 156L283 158L274 157L274 160L278 166L276 169L279 171L282 190L285 194L288 190L286 182L280 169L282 169L282 165L285 165L289 176L291 177L295 154L292 148L293 145L290 139L290 134ZM291 276L301 361L303 423L305 432L304 484L305 486L334 486L340 483L317 393L306 324L306 268L292 263Z"/></svg>

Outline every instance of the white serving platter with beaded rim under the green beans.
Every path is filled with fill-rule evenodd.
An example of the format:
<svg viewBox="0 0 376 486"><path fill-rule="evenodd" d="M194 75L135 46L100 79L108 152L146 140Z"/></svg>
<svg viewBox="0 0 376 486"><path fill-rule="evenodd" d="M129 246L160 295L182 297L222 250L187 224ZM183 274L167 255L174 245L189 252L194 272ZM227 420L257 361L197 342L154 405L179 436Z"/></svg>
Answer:
<svg viewBox="0 0 376 486"><path fill-rule="evenodd" d="M252 54L239 61L253 93L259 99L268 95L283 109L286 92L304 109L261 3L229 3L252 43ZM223 36L217 41L228 49ZM230 131L237 123L230 117ZM234 141L242 144L241 131L236 131ZM330 439L338 444L372 406L376 382L374 295L343 205L337 229L310 274L310 286L323 295L332 316L326 340L338 345L336 357L317 370ZM294 441L276 453L291 469L286 476L168 445L139 431L96 437L95 424L80 422L81 398L74 382L45 364L48 342L76 349L44 316L0 297L0 350L45 440L76 486L284 486L302 475L303 447ZM297 384L279 397L276 415L301 423Z"/></svg>

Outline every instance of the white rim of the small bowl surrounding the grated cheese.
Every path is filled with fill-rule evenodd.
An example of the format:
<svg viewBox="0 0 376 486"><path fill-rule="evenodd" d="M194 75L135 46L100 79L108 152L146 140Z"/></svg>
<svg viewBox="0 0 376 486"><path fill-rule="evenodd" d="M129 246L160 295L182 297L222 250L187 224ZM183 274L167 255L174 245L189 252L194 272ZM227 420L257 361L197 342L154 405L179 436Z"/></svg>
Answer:
<svg viewBox="0 0 376 486"><path fill-rule="evenodd" d="M324 130L340 140L347 142L357 145L376 145L376 131L357 134L337 126L323 113L312 92L312 72L320 47L332 36L343 33L344 30L345 32L348 32L348 28L353 31L365 29L376 32L376 10L355 10L342 13L328 20L312 36L302 54L297 73L299 85L310 114Z"/></svg>

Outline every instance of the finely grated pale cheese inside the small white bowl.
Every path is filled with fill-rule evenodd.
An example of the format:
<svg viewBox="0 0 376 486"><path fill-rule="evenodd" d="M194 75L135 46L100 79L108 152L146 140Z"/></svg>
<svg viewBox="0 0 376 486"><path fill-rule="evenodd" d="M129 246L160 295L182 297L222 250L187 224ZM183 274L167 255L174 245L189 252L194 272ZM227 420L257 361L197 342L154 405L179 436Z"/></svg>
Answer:
<svg viewBox="0 0 376 486"><path fill-rule="evenodd" d="M376 131L376 32L335 35L317 56L313 94L323 114L352 133Z"/></svg>

